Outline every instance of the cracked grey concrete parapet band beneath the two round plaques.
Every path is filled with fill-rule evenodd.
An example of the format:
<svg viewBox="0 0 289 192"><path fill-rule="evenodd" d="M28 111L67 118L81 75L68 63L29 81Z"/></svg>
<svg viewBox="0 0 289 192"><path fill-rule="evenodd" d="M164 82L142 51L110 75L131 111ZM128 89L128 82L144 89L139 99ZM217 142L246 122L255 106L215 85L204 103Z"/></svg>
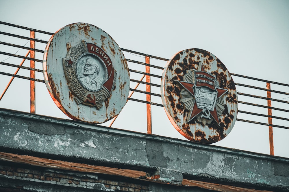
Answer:
<svg viewBox="0 0 289 192"><path fill-rule="evenodd" d="M163 182L184 175L289 190L287 158L15 111L0 110L1 147L155 170Z"/></svg>

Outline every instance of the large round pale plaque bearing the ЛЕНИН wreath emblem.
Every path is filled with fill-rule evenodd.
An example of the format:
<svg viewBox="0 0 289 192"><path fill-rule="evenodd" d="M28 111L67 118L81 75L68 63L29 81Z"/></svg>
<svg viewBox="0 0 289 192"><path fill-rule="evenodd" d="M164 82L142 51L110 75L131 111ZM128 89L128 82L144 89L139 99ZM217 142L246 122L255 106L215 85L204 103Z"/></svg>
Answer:
<svg viewBox="0 0 289 192"><path fill-rule="evenodd" d="M75 120L103 123L129 94L127 62L101 28L74 23L54 33L43 56L44 79L55 104Z"/></svg>

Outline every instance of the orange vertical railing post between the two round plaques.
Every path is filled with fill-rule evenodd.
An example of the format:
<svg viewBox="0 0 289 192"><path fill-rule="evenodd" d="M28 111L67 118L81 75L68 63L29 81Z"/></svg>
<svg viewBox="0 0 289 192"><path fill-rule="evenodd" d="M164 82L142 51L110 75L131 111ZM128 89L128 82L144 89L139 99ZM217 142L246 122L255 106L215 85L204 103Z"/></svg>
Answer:
<svg viewBox="0 0 289 192"><path fill-rule="evenodd" d="M145 63L150 64L150 58L145 57ZM145 66L145 72L151 73L151 67ZM146 82L151 83L151 76L146 75ZM151 93L151 85L146 85L146 91ZM151 94L147 94L147 102L151 102ZM151 134L151 104L147 104L147 133Z"/></svg>

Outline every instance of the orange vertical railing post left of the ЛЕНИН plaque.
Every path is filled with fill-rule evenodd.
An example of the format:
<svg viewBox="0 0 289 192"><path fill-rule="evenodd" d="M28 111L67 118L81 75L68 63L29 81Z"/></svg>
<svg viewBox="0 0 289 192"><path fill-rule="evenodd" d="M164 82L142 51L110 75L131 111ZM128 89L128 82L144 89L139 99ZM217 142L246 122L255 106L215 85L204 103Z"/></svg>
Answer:
<svg viewBox="0 0 289 192"><path fill-rule="evenodd" d="M30 38L35 39L35 31L30 31ZM30 48L35 49L35 41L30 40ZM35 51L30 50L30 57L35 59ZM30 60L30 68L35 69L35 61ZM30 78L35 79L35 71L30 70ZM30 80L30 113L35 113L35 81Z"/></svg>

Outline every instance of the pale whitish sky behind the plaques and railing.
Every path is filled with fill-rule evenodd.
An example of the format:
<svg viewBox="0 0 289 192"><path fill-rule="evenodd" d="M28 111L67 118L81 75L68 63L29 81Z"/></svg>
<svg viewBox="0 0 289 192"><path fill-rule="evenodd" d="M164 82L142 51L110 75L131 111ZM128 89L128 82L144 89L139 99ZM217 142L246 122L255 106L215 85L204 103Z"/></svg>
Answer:
<svg viewBox="0 0 289 192"><path fill-rule="evenodd" d="M81 2L81 3L80 3ZM217 56L231 73L260 79L288 82L289 1L4 1L0 0L0 20L54 33L67 24L85 22L106 31L120 47L150 55L170 58L178 51L201 48ZM0 31L13 33L0 26ZM10 31L9 31L10 30ZM17 31L15 31L17 33ZM27 32L25 32L27 33ZM23 31L19 35L29 36ZM49 36L36 36L49 40ZM7 36L0 41L14 43ZM27 40L17 40L24 45ZM29 46L27 44L26 46ZM44 49L44 47L37 47ZM0 46L0 51L7 51ZM16 49L17 51L18 49ZM15 51L15 52L16 52ZM21 50L22 51L22 50ZM15 53L12 51L12 53ZM25 55L27 50L23 51ZM17 53L19 54L19 52ZM36 55L42 59L41 54ZM125 53L126 58L144 62L144 58ZM1 55L0 60L8 58ZM20 60L21 61L21 60ZM13 58L4 62L15 63ZM39 64L39 63L38 63ZM166 62L151 60L151 64L165 66ZM29 62L25 66L29 66ZM135 64L129 64L134 69ZM39 69L42 66L38 66ZM136 67L137 68L137 67ZM144 67L143 67L144 68ZM141 69L142 71L144 69ZM5 71L0 66L0 71ZM15 68L9 73L14 73ZM20 72L19 72L20 73ZM152 70L161 75L162 71ZM21 73L20 73L21 74ZM23 74L26 74L23 72ZM141 75L140 75L141 76ZM131 78L139 79L140 76ZM37 78L43 79L42 74ZM234 77L234 81L266 88L266 83ZM0 92L10 77L0 76ZM160 84L160 80L152 80ZM13 86L0 102L0 107L29 111L29 81L15 78ZM135 85L132 84L132 87ZM140 89L144 88L140 87ZM274 90L289 92L289 88L271 85ZM266 92L237 87L238 92L266 96ZM23 101L11 102L21 93ZM160 93L153 88L153 92ZM25 94L28 93L28 94ZM276 99L289 96L272 94ZM136 94L135 98L138 98ZM145 99L140 95L139 98ZM247 100L246 100L247 99ZM266 100L239 97L239 100L266 105ZM283 99L289 101L288 98ZM160 98L153 102L161 103ZM273 107L289 109L289 104L272 102ZM152 107L153 134L183 138L171 125L161 107ZM239 110L266 114L267 110L239 105ZM53 104L44 83L36 83L36 113L68 118ZM129 101L113 127L146 132L145 104ZM288 113L273 111L273 115L288 118ZM239 113L239 119L250 117ZM267 123L267 118L249 120ZM273 124L289 125L273 119ZM109 123L104 124L108 126ZM289 157L289 130L274 128L275 155ZM231 133L215 145L269 154L268 128L236 121Z"/></svg>

